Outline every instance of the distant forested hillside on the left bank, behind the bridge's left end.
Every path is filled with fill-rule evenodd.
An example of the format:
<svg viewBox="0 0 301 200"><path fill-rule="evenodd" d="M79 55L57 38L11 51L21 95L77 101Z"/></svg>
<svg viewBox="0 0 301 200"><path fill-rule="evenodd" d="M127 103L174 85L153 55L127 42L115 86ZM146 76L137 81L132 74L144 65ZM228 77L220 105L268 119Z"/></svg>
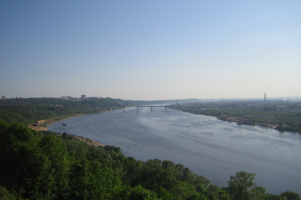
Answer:
<svg viewBox="0 0 301 200"><path fill-rule="evenodd" d="M72 101L61 98L20 98L0 100L0 119L8 123L29 125L39 120L94 114L104 110L120 109L123 105L164 104L171 101L131 101L113 98ZM173 100L172 102L175 102ZM101 106L95 106L101 105Z"/></svg>

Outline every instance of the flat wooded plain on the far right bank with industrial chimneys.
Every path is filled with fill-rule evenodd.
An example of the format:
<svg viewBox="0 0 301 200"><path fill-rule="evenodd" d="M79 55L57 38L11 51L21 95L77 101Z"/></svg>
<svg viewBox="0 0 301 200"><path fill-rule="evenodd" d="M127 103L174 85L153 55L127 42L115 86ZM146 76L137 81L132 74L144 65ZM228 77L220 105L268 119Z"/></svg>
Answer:
<svg viewBox="0 0 301 200"><path fill-rule="evenodd" d="M241 124L255 125L266 123L277 126L276 129L288 132L301 132L301 102L268 101L256 103L230 102L202 102L174 104L182 106L181 110L192 114L215 116L227 121L229 117L240 118ZM180 109L178 107L172 109ZM246 122L246 123L244 123Z"/></svg>

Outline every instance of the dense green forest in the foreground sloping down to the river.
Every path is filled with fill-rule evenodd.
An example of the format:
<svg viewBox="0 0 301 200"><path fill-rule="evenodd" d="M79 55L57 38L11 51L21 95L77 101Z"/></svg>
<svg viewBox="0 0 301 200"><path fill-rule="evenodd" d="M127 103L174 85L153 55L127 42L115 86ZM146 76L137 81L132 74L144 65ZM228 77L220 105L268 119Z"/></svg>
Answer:
<svg viewBox="0 0 301 200"><path fill-rule="evenodd" d="M237 172L219 188L182 164L142 162L66 133L0 120L0 137L0 199L300 200L291 191L266 193L254 173Z"/></svg>

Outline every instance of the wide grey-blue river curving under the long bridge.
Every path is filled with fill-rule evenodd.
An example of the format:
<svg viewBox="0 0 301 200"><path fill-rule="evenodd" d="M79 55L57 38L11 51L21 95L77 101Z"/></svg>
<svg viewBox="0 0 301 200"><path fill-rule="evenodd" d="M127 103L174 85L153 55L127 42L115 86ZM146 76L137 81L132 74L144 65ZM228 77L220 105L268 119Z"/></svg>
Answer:
<svg viewBox="0 0 301 200"><path fill-rule="evenodd" d="M125 156L138 160L181 163L220 187L228 186L230 175L247 171L257 174L256 184L268 193L301 194L301 135L297 133L147 107L70 118L48 129L121 147Z"/></svg>

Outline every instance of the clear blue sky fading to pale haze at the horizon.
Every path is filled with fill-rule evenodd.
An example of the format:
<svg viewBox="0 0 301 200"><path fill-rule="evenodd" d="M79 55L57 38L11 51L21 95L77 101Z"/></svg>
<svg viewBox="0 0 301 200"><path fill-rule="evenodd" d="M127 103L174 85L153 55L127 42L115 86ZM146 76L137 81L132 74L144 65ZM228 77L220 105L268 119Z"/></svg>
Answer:
<svg viewBox="0 0 301 200"><path fill-rule="evenodd" d="M0 95L301 96L301 1L0 2Z"/></svg>

